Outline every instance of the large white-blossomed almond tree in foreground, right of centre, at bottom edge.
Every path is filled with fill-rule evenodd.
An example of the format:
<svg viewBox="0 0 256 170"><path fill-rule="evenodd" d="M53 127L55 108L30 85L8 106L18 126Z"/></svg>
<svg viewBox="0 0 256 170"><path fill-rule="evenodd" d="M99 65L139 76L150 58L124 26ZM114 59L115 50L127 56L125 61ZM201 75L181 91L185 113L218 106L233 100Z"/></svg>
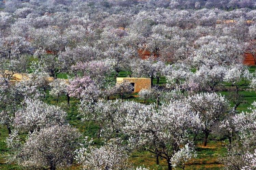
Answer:
<svg viewBox="0 0 256 170"><path fill-rule="evenodd" d="M175 101L160 107L144 105L142 109L128 110L123 128L134 146L148 150L167 160L168 169L172 169L172 157L191 140L189 130L200 126L199 115L191 112L189 105ZM168 125L168 126L166 126Z"/></svg>

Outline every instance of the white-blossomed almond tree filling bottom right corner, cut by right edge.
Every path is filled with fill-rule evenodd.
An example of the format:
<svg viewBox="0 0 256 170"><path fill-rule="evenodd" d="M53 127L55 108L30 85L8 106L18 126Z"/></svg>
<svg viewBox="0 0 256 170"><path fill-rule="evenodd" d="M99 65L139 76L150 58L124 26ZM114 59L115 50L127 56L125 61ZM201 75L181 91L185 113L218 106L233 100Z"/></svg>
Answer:
<svg viewBox="0 0 256 170"><path fill-rule="evenodd" d="M221 162L230 169L255 168L255 102L250 112L242 112L232 117L232 126L224 122L222 126L235 131L236 137L229 146L228 153L221 157Z"/></svg>

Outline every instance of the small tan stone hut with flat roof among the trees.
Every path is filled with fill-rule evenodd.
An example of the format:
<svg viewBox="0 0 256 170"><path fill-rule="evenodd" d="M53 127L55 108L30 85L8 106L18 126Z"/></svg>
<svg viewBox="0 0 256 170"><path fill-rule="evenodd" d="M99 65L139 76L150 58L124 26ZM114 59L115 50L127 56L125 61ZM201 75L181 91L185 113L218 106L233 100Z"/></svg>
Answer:
<svg viewBox="0 0 256 170"><path fill-rule="evenodd" d="M134 87L134 92L139 92L141 89L151 88L151 79L148 78L116 78L116 83L122 83L123 81L128 81Z"/></svg>

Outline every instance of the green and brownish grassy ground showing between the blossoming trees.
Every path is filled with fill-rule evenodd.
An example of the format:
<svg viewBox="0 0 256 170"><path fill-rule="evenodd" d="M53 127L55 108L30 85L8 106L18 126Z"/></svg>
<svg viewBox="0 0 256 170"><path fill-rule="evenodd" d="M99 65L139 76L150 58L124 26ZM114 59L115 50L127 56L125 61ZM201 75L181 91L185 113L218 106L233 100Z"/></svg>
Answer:
<svg viewBox="0 0 256 170"><path fill-rule="evenodd" d="M249 68L251 72L255 71L255 67ZM119 77L126 77L127 72L123 71L120 72ZM59 74L58 78L67 78L66 74ZM156 83L156 80L154 80L154 83ZM160 84L165 83L165 79L160 79ZM229 84L226 84L225 86L229 87ZM219 92L222 95L228 96L228 91L220 91ZM240 91L240 94L244 96L244 99L246 100L246 103L241 104L238 107L238 111L247 111L248 107L256 101L256 93L255 91ZM133 96L127 96L127 100L135 100L137 102L143 102L141 99L136 98L134 96L137 96L137 94L134 94ZM78 116L77 112L77 104L79 103L79 100L71 99L70 106L67 106L66 104L66 96L61 96L59 99L59 103L56 103L56 98L53 98L52 96L49 96L47 93L46 95L46 103L49 104L56 104L62 107L67 113L67 119L71 125L76 127L80 130L80 132L84 136L89 136L96 138L97 137L97 131L98 127L93 122L82 122L81 118ZM152 102L152 101L147 101ZM231 106L233 105L230 103ZM6 148L5 144L5 138L8 137L8 131L5 126L0 126L0 169L24 169L18 165L15 164L6 164L4 155L8 153L8 149ZM202 146L202 136L198 137L197 140L197 157L192 159L190 162L187 163L186 169L222 169L223 165L221 165L218 162L218 156L224 155L226 153L226 147L227 141L217 138L213 134L209 136L210 142L208 143L207 147ZM98 141L100 142L100 141ZM97 143L97 140L96 140ZM160 159L160 165L155 164L155 158L154 155L147 151L137 151L131 154L129 158L129 162L131 165L137 167L137 166L144 166L149 167L152 169L167 169L167 163L166 160ZM72 166L70 169L79 169L79 166L75 165Z"/></svg>

